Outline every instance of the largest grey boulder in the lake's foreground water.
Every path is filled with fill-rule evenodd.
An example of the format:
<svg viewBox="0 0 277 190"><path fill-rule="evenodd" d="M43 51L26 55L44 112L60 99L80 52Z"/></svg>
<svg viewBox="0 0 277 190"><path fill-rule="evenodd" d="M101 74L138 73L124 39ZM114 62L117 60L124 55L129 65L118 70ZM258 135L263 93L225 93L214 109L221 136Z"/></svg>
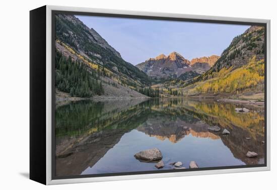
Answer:
<svg viewBox="0 0 277 190"><path fill-rule="evenodd" d="M143 150L141 152L136 153L134 157L137 159L147 161L161 160L163 158L162 152L158 148Z"/></svg>

